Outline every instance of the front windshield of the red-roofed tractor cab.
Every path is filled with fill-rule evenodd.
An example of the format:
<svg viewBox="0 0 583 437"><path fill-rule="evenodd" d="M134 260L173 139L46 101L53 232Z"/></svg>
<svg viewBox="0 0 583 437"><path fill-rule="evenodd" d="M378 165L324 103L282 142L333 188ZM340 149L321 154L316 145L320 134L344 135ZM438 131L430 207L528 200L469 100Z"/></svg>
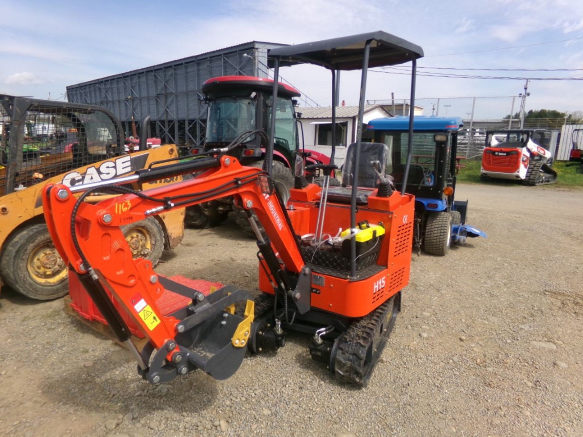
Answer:
<svg viewBox="0 0 583 437"><path fill-rule="evenodd" d="M209 102L206 143L230 143L255 129L256 103L251 98L217 98ZM251 137L247 141L251 141Z"/></svg>

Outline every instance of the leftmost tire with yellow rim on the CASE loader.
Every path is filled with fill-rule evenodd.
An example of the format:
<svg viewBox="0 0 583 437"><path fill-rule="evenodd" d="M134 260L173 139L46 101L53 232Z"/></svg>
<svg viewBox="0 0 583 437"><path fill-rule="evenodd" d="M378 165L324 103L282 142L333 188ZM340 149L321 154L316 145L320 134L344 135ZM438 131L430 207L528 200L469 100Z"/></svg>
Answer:
<svg viewBox="0 0 583 437"><path fill-rule="evenodd" d="M44 223L28 225L9 237L0 273L8 286L31 299L47 301L69 292L67 267Z"/></svg>

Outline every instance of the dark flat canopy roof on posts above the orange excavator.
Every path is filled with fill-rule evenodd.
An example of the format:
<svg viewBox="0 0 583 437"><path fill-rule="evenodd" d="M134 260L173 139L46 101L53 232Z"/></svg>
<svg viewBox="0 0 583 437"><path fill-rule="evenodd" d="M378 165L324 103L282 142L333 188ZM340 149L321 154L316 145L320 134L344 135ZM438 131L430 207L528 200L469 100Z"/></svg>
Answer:
<svg viewBox="0 0 583 437"><path fill-rule="evenodd" d="M359 70L364 45L371 41L368 67L397 65L423 57L423 49L381 30L330 40L272 48L269 57L280 58L280 65L316 64L334 70Z"/></svg>

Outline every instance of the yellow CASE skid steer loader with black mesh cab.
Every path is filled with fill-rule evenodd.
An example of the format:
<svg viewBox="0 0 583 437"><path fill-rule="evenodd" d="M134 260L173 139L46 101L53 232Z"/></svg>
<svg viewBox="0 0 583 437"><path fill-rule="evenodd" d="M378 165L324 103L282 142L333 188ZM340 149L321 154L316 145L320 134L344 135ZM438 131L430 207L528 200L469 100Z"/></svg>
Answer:
<svg viewBox="0 0 583 437"><path fill-rule="evenodd" d="M96 184L147 168L152 161L178 159L167 145L127 154L121 123L108 110L54 100L0 95L0 286L33 299L68 293L67 266L44 223L42 191L47 184ZM142 123L146 126L147 121ZM146 138L146 132L141 138ZM181 180L151 181L145 189ZM97 202L97 195L87 199ZM124 226L134 256L154 264L184 234L184 209Z"/></svg>

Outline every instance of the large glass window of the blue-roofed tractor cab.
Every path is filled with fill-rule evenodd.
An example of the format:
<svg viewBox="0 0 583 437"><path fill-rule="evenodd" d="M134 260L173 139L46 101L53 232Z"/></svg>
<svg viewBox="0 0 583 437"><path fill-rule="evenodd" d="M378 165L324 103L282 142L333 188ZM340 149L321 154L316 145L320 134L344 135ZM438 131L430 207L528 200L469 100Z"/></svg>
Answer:
<svg viewBox="0 0 583 437"><path fill-rule="evenodd" d="M391 158L387 162L387 173L391 174L395 184L401 184L407 162L409 134L405 132L387 132L382 135L382 142L391 149ZM436 143L433 133L413 133L413 153L409 168L409 185L434 185L436 172Z"/></svg>

